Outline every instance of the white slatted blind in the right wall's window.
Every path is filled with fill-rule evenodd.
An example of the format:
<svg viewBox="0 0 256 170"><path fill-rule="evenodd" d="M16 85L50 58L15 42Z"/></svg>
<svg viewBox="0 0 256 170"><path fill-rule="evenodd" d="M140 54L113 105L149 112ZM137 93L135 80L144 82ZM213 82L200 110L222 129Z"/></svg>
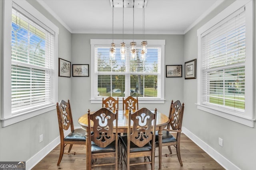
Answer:
<svg viewBox="0 0 256 170"><path fill-rule="evenodd" d="M245 7L242 7L202 34L203 104L244 112L245 21Z"/></svg>

